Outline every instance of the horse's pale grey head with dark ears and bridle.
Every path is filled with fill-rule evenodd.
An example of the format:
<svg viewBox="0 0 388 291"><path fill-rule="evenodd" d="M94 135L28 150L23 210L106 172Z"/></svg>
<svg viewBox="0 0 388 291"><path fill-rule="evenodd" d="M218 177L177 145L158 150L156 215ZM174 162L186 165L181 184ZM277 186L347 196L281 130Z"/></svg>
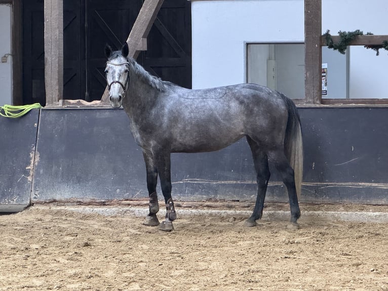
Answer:
<svg viewBox="0 0 388 291"><path fill-rule="evenodd" d="M122 105L129 83L128 44L125 43L121 51L113 51L109 45L105 46L108 58L105 67L106 82L108 83L110 105L118 108Z"/></svg>

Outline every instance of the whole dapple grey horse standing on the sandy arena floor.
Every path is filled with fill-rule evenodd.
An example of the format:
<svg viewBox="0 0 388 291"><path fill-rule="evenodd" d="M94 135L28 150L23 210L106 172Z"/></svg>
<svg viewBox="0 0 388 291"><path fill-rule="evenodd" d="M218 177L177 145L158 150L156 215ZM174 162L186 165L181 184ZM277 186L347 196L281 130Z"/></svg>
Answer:
<svg viewBox="0 0 388 291"><path fill-rule="evenodd" d="M300 216L297 192L302 179L302 135L295 104L285 95L255 84L190 90L151 76L133 58L128 45L105 47L106 80L113 107L123 105L130 129L143 151L149 194L145 225L159 225L157 180L166 203L161 229L171 231L176 219L171 198L171 153L217 151L246 137L257 174L257 197L246 226L263 212L273 163L286 185L291 226Z"/></svg>

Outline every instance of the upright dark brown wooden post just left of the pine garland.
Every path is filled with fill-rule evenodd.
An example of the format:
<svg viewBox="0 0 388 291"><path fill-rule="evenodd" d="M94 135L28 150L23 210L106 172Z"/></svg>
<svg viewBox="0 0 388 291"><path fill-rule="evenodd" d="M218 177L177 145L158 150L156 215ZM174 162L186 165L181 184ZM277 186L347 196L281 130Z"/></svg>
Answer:
<svg viewBox="0 0 388 291"><path fill-rule="evenodd" d="M322 0L304 0L304 91L306 104L321 104Z"/></svg>

